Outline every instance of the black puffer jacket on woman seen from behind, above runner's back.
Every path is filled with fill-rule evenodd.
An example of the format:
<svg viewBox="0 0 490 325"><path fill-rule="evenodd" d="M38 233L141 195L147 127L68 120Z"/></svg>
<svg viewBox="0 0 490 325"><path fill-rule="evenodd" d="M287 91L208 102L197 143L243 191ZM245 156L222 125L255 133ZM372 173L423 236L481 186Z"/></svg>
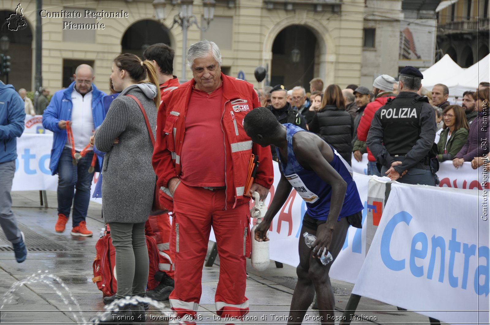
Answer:
<svg viewBox="0 0 490 325"><path fill-rule="evenodd" d="M332 145L335 150L350 164L352 157L352 130L354 120L343 109L335 105L326 105L309 124L310 131Z"/></svg>

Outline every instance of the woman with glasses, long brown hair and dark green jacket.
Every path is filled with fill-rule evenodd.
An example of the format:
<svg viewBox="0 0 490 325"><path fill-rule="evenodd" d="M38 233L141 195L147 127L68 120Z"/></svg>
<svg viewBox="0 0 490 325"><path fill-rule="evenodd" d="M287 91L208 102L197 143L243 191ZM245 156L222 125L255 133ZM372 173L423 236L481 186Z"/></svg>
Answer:
<svg viewBox="0 0 490 325"><path fill-rule="evenodd" d="M437 158L440 162L453 160L468 139L469 125L465 110L458 105L449 105L442 112L441 136L437 143Z"/></svg>

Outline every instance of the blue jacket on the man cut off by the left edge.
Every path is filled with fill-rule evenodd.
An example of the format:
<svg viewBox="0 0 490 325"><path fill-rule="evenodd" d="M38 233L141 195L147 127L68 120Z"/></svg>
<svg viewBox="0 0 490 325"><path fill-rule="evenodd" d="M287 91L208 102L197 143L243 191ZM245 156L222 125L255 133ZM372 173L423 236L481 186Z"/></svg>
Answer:
<svg viewBox="0 0 490 325"><path fill-rule="evenodd" d="M24 101L14 86L0 81L0 163L17 158L17 138L24 132Z"/></svg>

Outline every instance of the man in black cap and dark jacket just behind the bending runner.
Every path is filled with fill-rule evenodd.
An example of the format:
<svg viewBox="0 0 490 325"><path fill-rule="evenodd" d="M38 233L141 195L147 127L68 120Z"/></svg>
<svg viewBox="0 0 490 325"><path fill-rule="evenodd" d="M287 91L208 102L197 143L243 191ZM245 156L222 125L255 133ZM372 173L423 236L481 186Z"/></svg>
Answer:
<svg viewBox="0 0 490 325"><path fill-rule="evenodd" d="M270 90L270 105L267 108L274 114L279 123L291 123L307 130L306 118L298 110L291 106L287 101L288 90L283 85L275 85ZM277 160L276 150L273 145L270 146L272 159Z"/></svg>

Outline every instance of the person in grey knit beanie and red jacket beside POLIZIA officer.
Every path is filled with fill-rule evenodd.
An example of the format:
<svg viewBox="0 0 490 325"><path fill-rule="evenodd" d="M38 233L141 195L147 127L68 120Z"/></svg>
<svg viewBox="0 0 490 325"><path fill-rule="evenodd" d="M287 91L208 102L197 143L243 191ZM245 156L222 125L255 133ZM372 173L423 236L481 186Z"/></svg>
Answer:
<svg viewBox="0 0 490 325"><path fill-rule="evenodd" d="M389 76L388 74L382 74L376 79L372 84L374 101L370 102L364 109L364 114L361 117L359 126L357 127L357 139L360 141L365 141L368 138L369 127L371 126L372 118L374 113L379 110L383 105L386 104L388 99L395 98L396 95L393 94L393 84L396 82L395 78ZM368 150L368 175L376 175L381 177L381 173L376 166L376 158L372 155L369 147Z"/></svg>

